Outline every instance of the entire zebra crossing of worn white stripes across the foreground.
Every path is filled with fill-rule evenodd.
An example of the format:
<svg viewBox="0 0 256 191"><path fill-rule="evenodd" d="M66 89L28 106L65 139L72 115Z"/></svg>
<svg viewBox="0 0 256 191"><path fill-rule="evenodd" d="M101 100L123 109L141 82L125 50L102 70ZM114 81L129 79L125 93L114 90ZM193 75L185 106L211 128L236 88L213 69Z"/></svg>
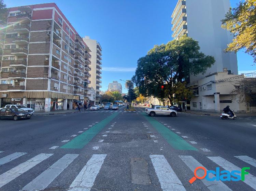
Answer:
<svg viewBox="0 0 256 191"><path fill-rule="evenodd" d="M29 172L29 174L38 174L35 171L42 170L37 169L34 170L33 167L37 166L39 163L43 161L52 161L53 164L46 164L47 169L43 169L44 171L36 177L32 177L33 179L29 180L30 182L26 185L20 185L23 188L20 188L21 191L28 191L28 190L44 190L46 189L54 180L61 174L63 171L71 166L71 168L76 168L77 165L75 159L79 157L84 157L82 154L65 154L61 158L57 158L56 160L51 159L54 154L51 153L41 153L38 154L25 162L18 164L15 167L12 167L12 162L14 160L19 160L21 157L26 157L28 153L24 152L15 152L9 154L7 156L2 157L4 152L0 154L0 168L4 166L6 163L9 163L11 166L10 170L4 172L0 175L0 190L3 186L7 184L11 184L11 181L19 178L20 175ZM101 168L104 168L104 162L109 162L109 159L106 159L106 154L93 154L89 156L89 160L86 162L85 166L80 170L79 174L72 180L70 180L69 188L65 188L65 190L69 191L90 191L91 188L97 184L95 183L95 179L97 175L101 172ZM109 157L111 157L109 155ZM250 168L256 167L256 160L251 158L250 156L232 156L229 160L222 158L220 156L204 156L205 160L209 160L207 166L216 166L221 167L227 171L241 171L242 166L237 166L237 160L243 161L247 164ZM207 169L207 166L203 166L196 158L193 156L183 156L180 155L179 158L181 159L181 167L179 171L183 171L185 168L191 170L191 174L194 173L194 170L197 167L204 167ZM148 161L149 165L153 166L154 172L158 181L160 183L162 190L178 190L178 191L185 191L186 186L184 186L184 180L188 181L191 175L186 175L186 177L181 177L181 175L177 175L177 169L175 165L172 164L172 161L168 161L164 155L148 155L148 158L145 160ZM230 161L232 160L232 161ZM233 162L233 163L232 163ZM235 164L234 164L235 163ZM127 164L129 165L129 164ZM106 166L108 166L106 164ZM142 168L142 167L141 167ZM176 170L175 170L176 169ZM104 171L104 170L103 170ZM254 171L255 172L255 171ZM204 175L203 171L197 171L197 176L202 177ZM151 175L149 175L151 176ZM155 177L155 176L154 176ZM213 178L215 175L213 173L209 173L209 178ZM67 177L69 178L69 177ZM197 179L196 181L202 181L202 183L207 187L209 190L227 190L231 191L232 188L229 188L230 185L235 186L236 182L232 182L232 184L225 184L222 181L208 181L207 179ZM183 184L182 184L183 182ZM246 184L250 186L252 189L256 190L256 177L250 173L245 175L245 180L240 181L242 184Z"/></svg>

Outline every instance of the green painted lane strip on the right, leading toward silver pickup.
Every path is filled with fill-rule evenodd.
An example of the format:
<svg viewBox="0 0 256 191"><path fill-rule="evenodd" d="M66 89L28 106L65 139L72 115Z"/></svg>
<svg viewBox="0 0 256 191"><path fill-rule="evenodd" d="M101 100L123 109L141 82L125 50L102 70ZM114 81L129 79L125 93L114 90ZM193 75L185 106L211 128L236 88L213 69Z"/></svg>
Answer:
<svg viewBox="0 0 256 191"><path fill-rule="evenodd" d="M173 133L170 129L168 129L163 124L159 123L157 120L155 120L153 117L148 116L145 113L142 113L142 115L145 117L145 119L150 122L150 124L158 131L158 133L165 138L165 140L174 148L177 150L191 150L191 151L197 151L197 149L190 145L187 141L185 141L182 137L179 135Z"/></svg>

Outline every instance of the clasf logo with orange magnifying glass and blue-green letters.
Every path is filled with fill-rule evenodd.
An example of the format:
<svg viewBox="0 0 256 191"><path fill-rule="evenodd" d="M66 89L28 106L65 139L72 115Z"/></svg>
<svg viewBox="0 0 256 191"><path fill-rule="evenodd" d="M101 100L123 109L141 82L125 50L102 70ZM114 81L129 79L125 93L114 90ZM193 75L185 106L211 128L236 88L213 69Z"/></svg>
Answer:
<svg viewBox="0 0 256 191"><path fill-rule="evenodd" d="M197 175L197 170L202 169L204 171L203 176L198 176ZM194 171L194 175L190 180L189 183L192 184L194 183L194 181L198 178L198 179L207 179L208 181L239 181L242 180L244 181L244 176L246 174L249 174L248 172L246 172L245 170L250 170L250 167L243 167L241 169L241 171L238 170L233 170L233 171L227 171L227 170L223 170L220 171L219 167L216 168L216 171L212 171L212 170L206 170L204 167L197 167ZM209 177L209 174L212 173L215 175L215 177ZM241 175L240 175L241 174Z"/></svg>

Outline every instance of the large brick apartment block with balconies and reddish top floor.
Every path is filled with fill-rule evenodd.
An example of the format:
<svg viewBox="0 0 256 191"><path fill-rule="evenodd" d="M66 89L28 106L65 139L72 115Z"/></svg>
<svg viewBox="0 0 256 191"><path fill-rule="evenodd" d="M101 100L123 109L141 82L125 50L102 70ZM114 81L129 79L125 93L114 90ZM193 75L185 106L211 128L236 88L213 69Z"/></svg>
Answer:
<svg viewBox="0 0 256 191"><path fill-rule="evenodd" d="M0 102L36 111L67 109L90 97L90 49L55 3L8 10Z"/></svg>

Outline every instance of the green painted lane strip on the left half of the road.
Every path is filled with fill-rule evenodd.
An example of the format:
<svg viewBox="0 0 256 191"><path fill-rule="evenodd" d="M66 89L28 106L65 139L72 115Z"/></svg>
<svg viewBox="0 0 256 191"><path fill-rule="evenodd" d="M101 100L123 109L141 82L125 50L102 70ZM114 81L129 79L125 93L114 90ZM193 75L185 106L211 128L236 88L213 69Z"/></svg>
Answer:
<svg viewBox="0 0 256 191"><path fill-rule="evenodd" d="M91 139L95 137L110 121L112 121L116 116L118 115L118 112L112 113L111 116L103 119L99 123L95 124L91 128L89 128L87 131L82 133L81 135L75 137L65 145L61 146L62 149L82 149L86 144L88 144Z"/></svg>

